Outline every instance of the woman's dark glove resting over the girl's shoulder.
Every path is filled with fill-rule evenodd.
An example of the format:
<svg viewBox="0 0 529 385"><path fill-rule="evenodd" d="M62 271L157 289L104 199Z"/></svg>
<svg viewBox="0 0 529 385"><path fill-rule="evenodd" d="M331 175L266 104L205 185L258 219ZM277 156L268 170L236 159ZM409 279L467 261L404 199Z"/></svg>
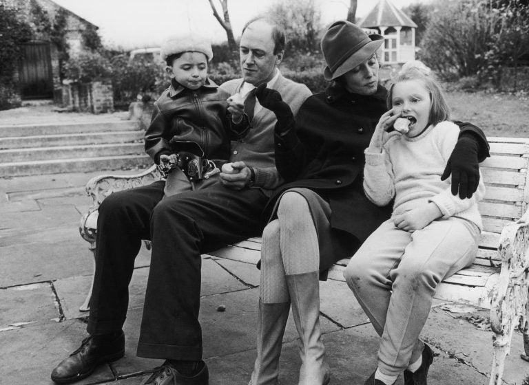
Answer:
<svg viewBox="0 0 529 385"><path fill-rule="evenodd" d="M465 199L472 197L479 183L479 143L471 133L461 133L444 169L441 180L452 174L452 194Z"/></svg>

